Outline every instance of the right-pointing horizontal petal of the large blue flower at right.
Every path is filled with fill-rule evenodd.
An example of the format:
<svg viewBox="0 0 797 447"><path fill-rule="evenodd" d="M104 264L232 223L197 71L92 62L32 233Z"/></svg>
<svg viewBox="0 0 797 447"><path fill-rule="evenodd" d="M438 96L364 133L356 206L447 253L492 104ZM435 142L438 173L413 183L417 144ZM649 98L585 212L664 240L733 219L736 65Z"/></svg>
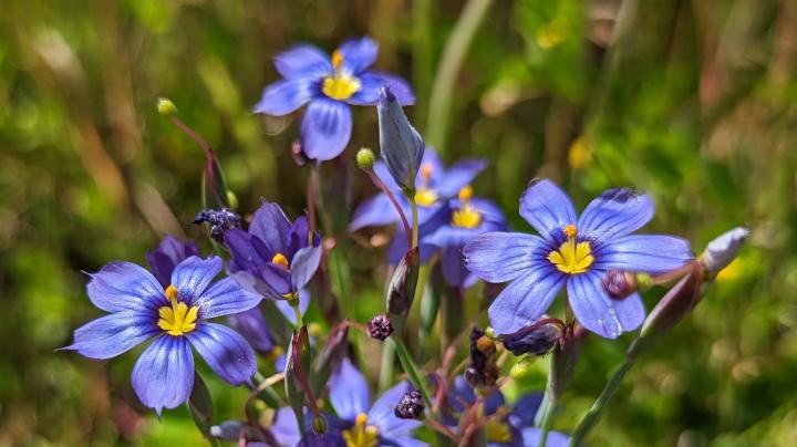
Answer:
<svg viewBox="0 0 797 447"><path fill-rule="evenodd" d="M662 273L693 259L689 241L672 236L633 235L600 246L596 268Z"/></svg>

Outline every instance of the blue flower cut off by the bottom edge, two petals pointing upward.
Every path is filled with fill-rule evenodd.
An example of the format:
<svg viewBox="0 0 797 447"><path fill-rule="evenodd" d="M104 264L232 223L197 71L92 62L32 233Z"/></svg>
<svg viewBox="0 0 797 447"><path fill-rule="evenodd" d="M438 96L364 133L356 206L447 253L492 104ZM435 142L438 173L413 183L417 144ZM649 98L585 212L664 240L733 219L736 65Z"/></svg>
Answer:
<svg viewBox="0 0 797 447"><path fill-rule="evenodd" d="M349 358L343 358L330 377L329 398L340 419L346 446L426 446L412 437L412 432L423 423L401 419L394 414L402 395L411 389L406 381L401 382L371 405L365 377Z"/></svg>

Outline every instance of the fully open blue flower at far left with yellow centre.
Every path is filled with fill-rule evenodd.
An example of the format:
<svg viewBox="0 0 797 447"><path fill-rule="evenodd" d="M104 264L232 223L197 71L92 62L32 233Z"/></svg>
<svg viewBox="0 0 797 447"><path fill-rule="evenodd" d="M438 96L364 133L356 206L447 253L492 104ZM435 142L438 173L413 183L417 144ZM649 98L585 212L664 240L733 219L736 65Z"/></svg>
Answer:
<svg viewBox="0 0 797 447"><path fill-rule="evenodd" d="M232 279L211 284L221 259L190 256L172 272L164 290L155 277L130 262L111 262L92 274L89 299L110 312L74 332L64 347L90 358L115 357L155 339L133 368L133 388L141 402L161 414L188 399L194 386L194 354L232 385L249 381L257 370L255 353L229 328L207 320L244 312L261 298Z"/></svg>

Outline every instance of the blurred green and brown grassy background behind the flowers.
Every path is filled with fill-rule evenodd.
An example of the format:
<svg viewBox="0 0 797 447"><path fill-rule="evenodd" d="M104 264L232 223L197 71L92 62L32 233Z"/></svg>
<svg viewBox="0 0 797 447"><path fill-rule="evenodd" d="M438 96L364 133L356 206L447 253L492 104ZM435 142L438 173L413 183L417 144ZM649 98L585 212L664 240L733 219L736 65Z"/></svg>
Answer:
<svg viewBox="0 0 797 447"><path fill-rule="evenodd" d="M465 2L4 1L0 445L201 443L185 409L161 424L139 406L135 355L54 352L101 313L81 270L143 263L164 233L204 242L189 224L203 156L156 113L161 95L217 149L242 212L261 196L301 212L307 169L290 155L299 115L249 110L278 79L280 50L363 34L380 42L380 69L412 80L408 113L445 159L489 159L475 188L514 228L529 229L516 211L526 183L548 176L581 207L610 186L651 193L646 230L687 237L696 251L733 226L752 229L694 314L631 372L592 445L795 445L797 2L472 3L488 8L484 21L470 45L455 41L466 51L453 83L435 84ZM350 148L328 169L377 146L375 112L354 116ZM343 173L354 202L373 193ZM366 273L383 253L359 254L354 289L366 292L349 300L373 311L381 282ZM588 340L557 428L575 427L628 341ZM219 420L238 416L246 392L208 384Z"/></svg>

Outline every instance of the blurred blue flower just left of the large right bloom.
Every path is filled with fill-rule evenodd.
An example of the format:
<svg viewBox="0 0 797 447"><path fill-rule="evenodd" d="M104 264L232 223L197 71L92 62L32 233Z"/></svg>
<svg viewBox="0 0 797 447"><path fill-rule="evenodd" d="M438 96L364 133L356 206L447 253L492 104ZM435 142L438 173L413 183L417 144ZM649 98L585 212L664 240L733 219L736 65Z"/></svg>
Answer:
<svg viewBox="0 0 797 447"><path fill-rule="evenodd" d="M477 278L466 268L462 249L475 236L488 231L506 231L507 222L500 208L490 200L473 197L473 188L459 189L459 197L451 199L444 210L444 224L423 242L443 251L441 267L443 278L449 285L468 288Z"/></svg>

